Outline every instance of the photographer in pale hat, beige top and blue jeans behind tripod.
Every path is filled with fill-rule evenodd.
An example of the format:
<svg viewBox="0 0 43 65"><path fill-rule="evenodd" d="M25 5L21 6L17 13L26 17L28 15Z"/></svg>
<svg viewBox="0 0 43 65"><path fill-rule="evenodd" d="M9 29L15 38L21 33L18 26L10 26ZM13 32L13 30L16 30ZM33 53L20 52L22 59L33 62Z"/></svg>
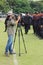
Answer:
<svg viewBox="0 0 43 65"><path fill-rule="evenodd" d="M18 20L15 20L15 17L12 13L12 11L10 11L8 13L8 19L7 19L7 34L8 34L8 41L7 41L7 45L6 45L6 49L5 49L5 55L9 56L10 54L15 54L13 52L13 48L12 48L12 44L13 44L13 36L15 34L15 29L16 29L16 24L19 21L19 17Z"/></svg>

